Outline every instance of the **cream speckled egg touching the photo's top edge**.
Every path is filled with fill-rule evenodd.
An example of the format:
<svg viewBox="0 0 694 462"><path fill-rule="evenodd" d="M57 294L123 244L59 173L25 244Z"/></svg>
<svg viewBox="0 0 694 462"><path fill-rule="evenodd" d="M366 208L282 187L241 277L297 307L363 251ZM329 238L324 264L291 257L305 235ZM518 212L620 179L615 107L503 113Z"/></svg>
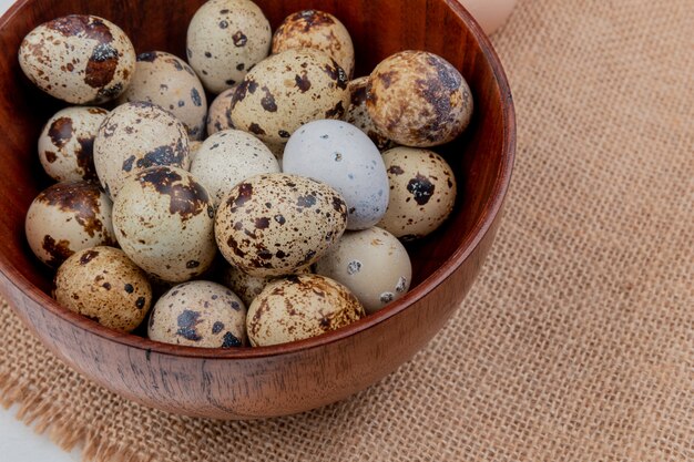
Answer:
<svg viewBox="0 0 694 462"><path fill-rule="evenodd" d="M269 54L272 38L267 18L251 0L210 0L188 24L188 62L217 94Z"/></svg>

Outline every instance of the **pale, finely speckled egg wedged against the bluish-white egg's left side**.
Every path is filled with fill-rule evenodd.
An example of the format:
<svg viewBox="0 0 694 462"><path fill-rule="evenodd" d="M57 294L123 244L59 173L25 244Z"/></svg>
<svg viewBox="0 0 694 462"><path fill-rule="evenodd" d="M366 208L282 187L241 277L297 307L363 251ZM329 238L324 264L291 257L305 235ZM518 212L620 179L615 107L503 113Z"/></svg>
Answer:
<svg viewBox="0 0 694 462"><path fill-rule="evenodd" d="M191 173L202 183L216 207L237 183L261 173L277 173L277 160L249 133L225 130L203 143L191 165Z"/></svg>

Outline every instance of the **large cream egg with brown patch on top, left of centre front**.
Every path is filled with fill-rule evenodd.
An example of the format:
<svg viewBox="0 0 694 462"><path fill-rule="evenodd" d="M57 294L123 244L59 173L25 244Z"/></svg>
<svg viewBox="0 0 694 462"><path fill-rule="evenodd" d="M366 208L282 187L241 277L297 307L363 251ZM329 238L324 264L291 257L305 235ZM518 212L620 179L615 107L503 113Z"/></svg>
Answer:
<svg viewBox="0 0 694 462"><path fill-rule="evenodd" d="M216 255L210 195L181 168L150 167L127 178L113 204L113 228L123 251L165 281L201 275Z"/></svg>

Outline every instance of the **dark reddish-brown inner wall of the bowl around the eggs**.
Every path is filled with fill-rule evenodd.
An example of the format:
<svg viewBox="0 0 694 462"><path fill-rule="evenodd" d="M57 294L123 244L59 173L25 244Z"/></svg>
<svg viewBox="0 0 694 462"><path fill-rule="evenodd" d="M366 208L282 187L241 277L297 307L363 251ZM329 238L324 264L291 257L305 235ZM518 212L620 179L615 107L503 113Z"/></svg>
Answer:
<svg viewBox="0 0 694 462"><path fill-rule="evenodd" d="M435 287L442 275L460 264L460 257L486 229L498 211L508 183L509 92L503 72L488 42L456 0L255 0L273 29L289 13L319 8L337 16L355 42L357 71L366 75L384 58L407 49L428 50L450 61L466 78L474 97L474 114L467 132L453 143L435 148L453 167L458 202L451 218L433 235L408 245L412 257L412 297ZM53 273L32 255L24 238L24 215L35 195L51 184L41 170L37 140L42 124L64 103L41 93L24 78L17 50L35 25L69 13L91 13L119 24L137 53L163 50L185 57L187 23L203 0L21 1L0 22L0 270L16 284L51 289ZM438 276L437 276L438 275ZM18 283L19 280L19 283ZM401 309L412 297L391 304ZM62 310L45 301L51 309ZM63 310L64 311L64 310ZM70 316L65 311L65 316ZM384 315L381 315L384 316ZM93 328L98 329L94 325ZM348 328L349 329L349 328Z"/></svg>

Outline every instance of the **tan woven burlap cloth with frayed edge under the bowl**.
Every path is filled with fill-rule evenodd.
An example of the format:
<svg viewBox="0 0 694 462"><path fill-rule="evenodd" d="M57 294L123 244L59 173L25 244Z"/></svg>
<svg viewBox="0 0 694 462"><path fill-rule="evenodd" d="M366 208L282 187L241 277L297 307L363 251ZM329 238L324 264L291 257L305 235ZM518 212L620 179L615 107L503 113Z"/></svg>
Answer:
<svg viewBox="0 0 694 462"><path fill-rule="evenodd" d="M518 163L473 290L412 361L302 415L124 401L0 309L0 394L98 461L693 461L694 4L521 1Z"/></svg>

